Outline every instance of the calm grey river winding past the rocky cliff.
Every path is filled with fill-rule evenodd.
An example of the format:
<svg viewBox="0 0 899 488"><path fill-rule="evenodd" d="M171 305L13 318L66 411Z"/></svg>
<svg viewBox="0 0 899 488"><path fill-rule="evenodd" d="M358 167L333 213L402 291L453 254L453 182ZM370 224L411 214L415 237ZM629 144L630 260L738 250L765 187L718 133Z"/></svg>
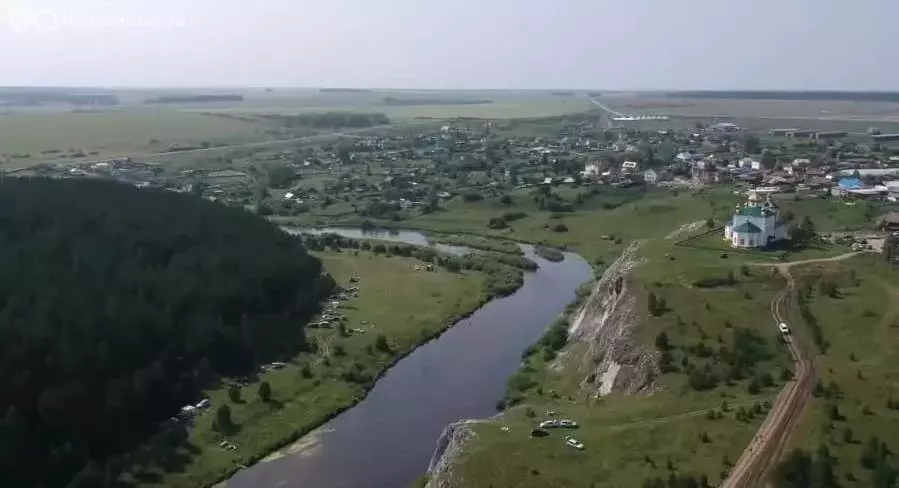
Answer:
<svg viewBox="0 0 899 488"><path fill-rule="evenodd" d="M329 231L427 243L409 231ZM496 413L521 353L592 278L590 265L577 254L553 263L535 255L532 246L522 249L540 268L525 274L517 292L487 303L399 361L365 400L301 439L304 449L238 472L228 488L408 488L427 469L447 424Z"/></svg>

